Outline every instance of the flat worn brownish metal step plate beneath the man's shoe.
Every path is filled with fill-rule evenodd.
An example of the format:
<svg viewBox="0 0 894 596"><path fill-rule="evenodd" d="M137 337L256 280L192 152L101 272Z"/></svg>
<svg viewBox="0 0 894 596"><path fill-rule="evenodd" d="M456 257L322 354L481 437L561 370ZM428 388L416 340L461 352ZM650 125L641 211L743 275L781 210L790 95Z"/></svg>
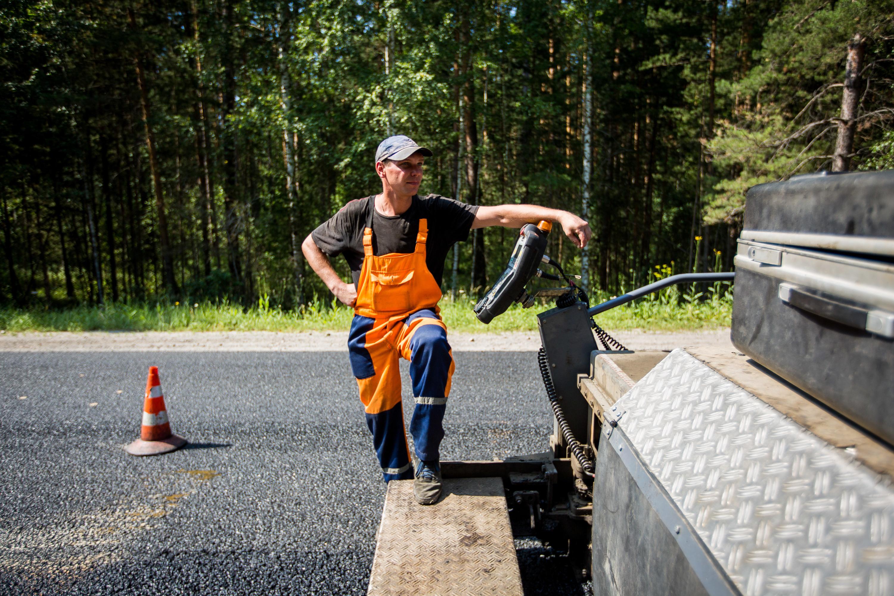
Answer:
<svg viewBox="0 0 894 596"><path fill-rule="evenodd" d="M429 506L413 499L413 481L388 483L367 593L521 596L502 480L444 479Z"/></svg>

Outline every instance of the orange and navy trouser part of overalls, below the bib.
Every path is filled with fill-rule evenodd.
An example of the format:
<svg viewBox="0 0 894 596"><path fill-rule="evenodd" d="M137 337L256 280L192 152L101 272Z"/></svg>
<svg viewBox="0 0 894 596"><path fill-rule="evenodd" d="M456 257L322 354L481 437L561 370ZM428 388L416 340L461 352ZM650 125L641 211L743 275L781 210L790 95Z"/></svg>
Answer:
<svg viewBox="0 0 894 596"><path fill-rule="evenodd" d="M416 456L439 459L454 368L447 327L427 308L397 321L354 315L348 348L384 481L410 479L413 466L403 424L400 358L409 360L416 400L409 423Z"/></svg>

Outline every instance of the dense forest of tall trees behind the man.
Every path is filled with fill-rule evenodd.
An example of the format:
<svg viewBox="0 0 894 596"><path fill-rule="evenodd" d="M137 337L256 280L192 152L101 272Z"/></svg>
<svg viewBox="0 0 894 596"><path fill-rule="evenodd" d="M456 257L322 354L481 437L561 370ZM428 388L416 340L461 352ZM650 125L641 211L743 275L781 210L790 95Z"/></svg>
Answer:
<svg viewBox="0 0 894 596"><path fill-rule="evenodd" d="M894 0L6 0L0 73L17 307L330 299L300 243L391 134L434 151L420 194L581 214L550 253L604 293L731 270L755 184L894 167Z"/></svg>

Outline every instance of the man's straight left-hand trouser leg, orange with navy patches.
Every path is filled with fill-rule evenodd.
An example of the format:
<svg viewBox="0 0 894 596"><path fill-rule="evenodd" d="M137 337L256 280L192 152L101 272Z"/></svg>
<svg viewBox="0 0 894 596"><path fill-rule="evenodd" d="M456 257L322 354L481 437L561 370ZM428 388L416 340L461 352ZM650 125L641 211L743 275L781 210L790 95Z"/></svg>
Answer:
<svg viewBox="0 0 894 596"><path fill-rule="evenodd" d="M360 401L386 483L413 477L401 408L400 357L386 340L390 331L385 323L357 315L348 342L351 368L358 377Z"/></svg>

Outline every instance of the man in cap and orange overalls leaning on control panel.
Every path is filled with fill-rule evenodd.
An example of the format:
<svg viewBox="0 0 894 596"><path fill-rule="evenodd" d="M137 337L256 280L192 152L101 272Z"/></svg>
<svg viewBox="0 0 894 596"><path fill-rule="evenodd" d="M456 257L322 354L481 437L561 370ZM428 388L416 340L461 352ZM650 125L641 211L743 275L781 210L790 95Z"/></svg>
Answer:
<svg viewBox="0 0 894 596"><path fill-rule="evenodd" d="M567 211L418 197L422 166L431 156L409 137L384 139L375 152L381 194L351 201L301 246L329 290L354 307L350 366L384 481L415 477L413 494L422 505L441 496L439 447L454 366L437 306L447 252L468 239L469 230L493 225L559 222L578 248L586 246L591 234L584 220ZM329 263L327 257L340 254L350 265L353 283L342 281ZM409 424L419 460L415 474L404 432L400 357L409 360L416 399Z"/></svg>

